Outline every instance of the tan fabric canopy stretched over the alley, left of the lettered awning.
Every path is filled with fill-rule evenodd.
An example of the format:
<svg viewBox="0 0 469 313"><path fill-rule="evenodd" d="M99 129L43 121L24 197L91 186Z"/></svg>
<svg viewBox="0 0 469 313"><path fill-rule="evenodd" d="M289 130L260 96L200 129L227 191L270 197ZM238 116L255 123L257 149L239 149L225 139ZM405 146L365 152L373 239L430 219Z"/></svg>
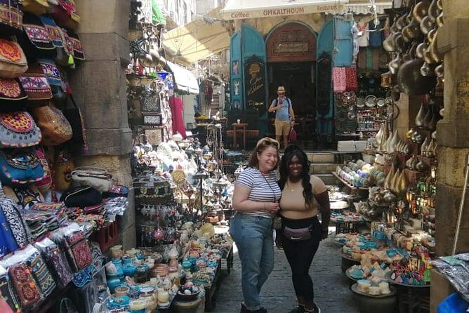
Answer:
<svg viewBox="0 0 469 313"><path fill-rule="evenodd" d="M163 47L181 64L190 65L230 47L231 23L220 20L220 8L204 18L172 29L164 34Z"/></svg>

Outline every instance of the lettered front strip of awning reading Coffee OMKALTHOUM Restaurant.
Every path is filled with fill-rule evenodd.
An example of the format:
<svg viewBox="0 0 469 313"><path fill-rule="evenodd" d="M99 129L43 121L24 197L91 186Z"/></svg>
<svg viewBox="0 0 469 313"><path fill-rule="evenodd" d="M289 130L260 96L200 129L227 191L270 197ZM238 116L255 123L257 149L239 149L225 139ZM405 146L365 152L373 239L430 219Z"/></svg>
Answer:
<svg viewBox="0 0 469 313"><path fill-rule="evenodd" d="M326 11L336 11L343 8L343 4L314 5L314 6L288 6L271 8L238 8L237 10L223 10L223 17L232 20L244 18L269 18L271 16L298 15L308 13L320 13Z"/></svg>

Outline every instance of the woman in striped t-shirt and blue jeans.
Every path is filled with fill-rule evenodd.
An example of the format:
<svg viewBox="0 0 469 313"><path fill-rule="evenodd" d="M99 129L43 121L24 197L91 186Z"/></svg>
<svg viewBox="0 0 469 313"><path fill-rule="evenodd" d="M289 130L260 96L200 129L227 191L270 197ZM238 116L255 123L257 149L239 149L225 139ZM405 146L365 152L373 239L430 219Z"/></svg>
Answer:
<svg viewBox="0 0 469 313"><path fill-rule="evenodd" d="M230 234L241 260L244 303L241 312L267 312L260 305L260 289L274 268L272 216L279 211L281 191L275 169L279 142L271 138L258 141L249 157L248 168L234 185Z"/></svg>

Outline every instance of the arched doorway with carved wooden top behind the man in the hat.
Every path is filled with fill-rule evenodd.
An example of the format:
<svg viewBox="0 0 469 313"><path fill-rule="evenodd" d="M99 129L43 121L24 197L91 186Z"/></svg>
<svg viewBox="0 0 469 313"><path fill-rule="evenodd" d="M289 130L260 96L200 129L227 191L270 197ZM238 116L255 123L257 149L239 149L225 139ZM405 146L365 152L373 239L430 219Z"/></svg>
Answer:
<svg viewBox="0 0 469 313"><path fill-rule="evenodd" d="M303 22L282 22L267 35L268 104L277 97L277 86L286 88L295 112L298 145L315 149L316 133L316 34ZM275 114L269 116L275 134Z"/></svg>

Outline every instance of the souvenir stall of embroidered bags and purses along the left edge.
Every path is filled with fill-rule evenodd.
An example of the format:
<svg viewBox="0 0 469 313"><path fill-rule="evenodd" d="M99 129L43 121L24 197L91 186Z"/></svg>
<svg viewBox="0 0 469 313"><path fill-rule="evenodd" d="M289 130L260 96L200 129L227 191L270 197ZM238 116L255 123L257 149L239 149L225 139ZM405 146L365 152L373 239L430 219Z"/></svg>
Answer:
<svg viewBox="0 0 469 313"><path fill-rule="evenodd" d="M67 74L84 60L74 1L0 1L1 312L92 312L128 188L86 154Z"/></svg>

